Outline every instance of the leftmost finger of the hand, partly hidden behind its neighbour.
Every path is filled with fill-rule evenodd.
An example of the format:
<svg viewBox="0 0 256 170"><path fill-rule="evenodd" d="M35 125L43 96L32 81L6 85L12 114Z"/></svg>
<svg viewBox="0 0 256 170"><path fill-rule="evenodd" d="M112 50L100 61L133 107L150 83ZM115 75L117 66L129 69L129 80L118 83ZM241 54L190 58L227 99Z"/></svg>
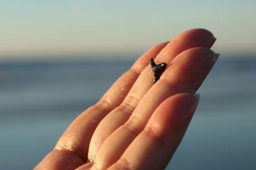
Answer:
<svg viewBox="0 0 256 170"><path fill-rule="evenodd" d="M136 81L140 71L146 66L143 60L156 57L157 53L159 53L167 43L168 42L156 45L143 54L129 71L116 80L97 104L81 113L81 115L70 124L56 144L54 150L69 150L86 160L90 139L100 120L124 100L124 97L131 89L134 81Z"/></svg>

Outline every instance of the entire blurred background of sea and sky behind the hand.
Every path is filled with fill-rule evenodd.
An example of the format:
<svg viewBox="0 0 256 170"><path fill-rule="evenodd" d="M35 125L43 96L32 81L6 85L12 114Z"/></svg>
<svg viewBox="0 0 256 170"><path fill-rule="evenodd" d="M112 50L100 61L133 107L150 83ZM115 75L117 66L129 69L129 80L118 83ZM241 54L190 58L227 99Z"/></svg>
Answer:
<svg viewBox="0 0 256 170"><path fill-rule="evenodd" d="M0 169L32 169L143 52L195 27L216 36L221 55L166 169L256 169L255 6L1 1Z"/></svg>

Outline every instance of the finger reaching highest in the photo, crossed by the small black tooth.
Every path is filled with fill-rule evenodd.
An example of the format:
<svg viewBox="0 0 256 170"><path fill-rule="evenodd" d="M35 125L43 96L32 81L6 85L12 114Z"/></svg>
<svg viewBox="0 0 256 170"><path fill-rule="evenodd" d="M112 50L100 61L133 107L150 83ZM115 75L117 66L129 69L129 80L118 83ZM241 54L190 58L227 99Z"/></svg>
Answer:
<svg viewBox="0 0 256 170"><path fill-rule="evenodd" d="M195 46L203 46L210 48L216 38L211 32L205 29L192 29L182 32L174 38L163 50L157 55L156 61L169 63L180 52L193 48ZM143 61L149 63L149 60ZM124 101L111 111L99 124L95 130L89 148L88 158L92 161L95 159L100 146L108 136L115 131L120 125L123 125L130 117L134 108L145 95L145 93L153 85L153 74L150 67L145 67L139 78L136 80L131 90L125 97Z"/></svg>

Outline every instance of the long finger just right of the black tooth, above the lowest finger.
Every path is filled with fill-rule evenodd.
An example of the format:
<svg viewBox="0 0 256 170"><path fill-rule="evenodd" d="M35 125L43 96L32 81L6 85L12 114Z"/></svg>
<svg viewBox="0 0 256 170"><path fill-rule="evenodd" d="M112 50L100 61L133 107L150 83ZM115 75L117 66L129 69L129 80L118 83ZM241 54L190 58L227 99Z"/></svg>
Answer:
<svg viewBox="0 0 256 170"><path fill-rule="evenodd" d="M106 169L115 162L167 97L181 92L194 93L215 61L216 54L208 48L191 48L180 53L141 99L129 120L104 141L94 160L97 167Z"/></svg>

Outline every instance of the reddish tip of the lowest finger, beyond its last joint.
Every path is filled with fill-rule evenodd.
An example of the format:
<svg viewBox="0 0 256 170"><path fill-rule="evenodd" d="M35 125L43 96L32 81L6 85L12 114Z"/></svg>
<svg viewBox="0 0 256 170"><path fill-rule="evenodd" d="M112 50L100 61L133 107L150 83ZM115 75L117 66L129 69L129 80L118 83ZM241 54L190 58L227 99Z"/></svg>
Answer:
<svg viewBox="0 0 256 170"><path fill-rule="evenodd" d="M199 99L199 94L189 93L168 97L154 111L147 127L155 129L163 136L177 132L182 134L195 113Z"/></svg>

